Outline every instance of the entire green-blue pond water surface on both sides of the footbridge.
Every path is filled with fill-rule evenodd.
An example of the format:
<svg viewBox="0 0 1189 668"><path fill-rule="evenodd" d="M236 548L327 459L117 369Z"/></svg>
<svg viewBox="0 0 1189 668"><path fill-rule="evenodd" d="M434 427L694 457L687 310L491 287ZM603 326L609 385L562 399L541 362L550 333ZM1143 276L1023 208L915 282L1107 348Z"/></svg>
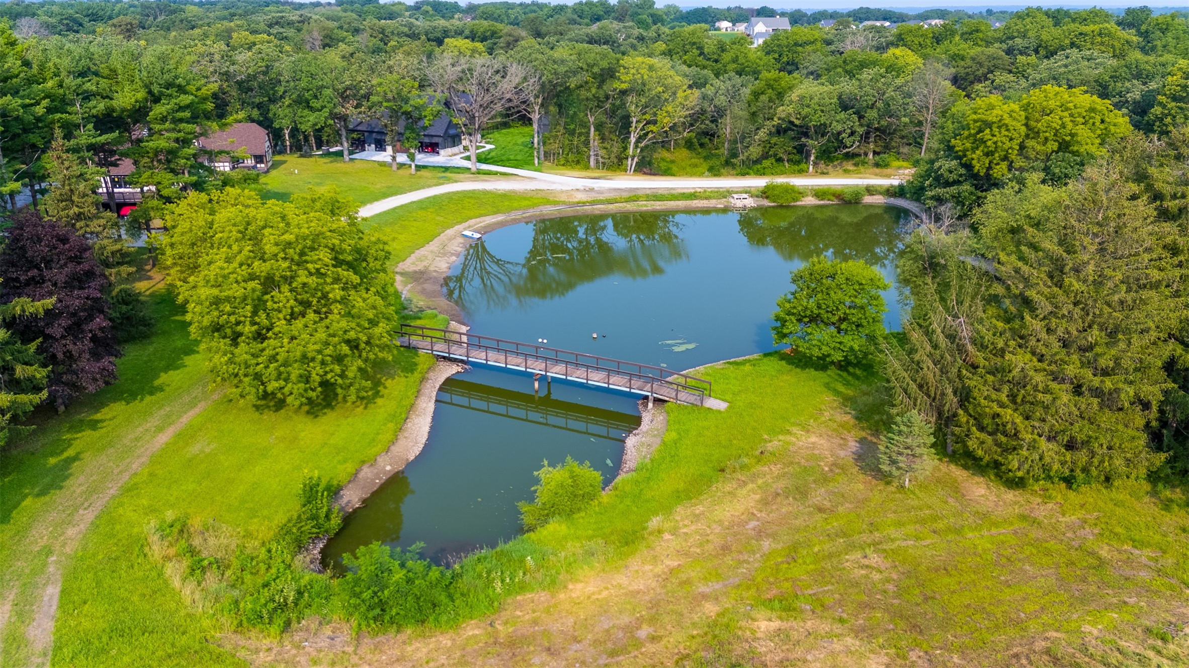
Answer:
<svg viewBox="0 0 1189 668"><path fill-rule="evenodd" d="M443 290L472 332L685 370L772 351L772 311L812 257L860 259L895 282L901 209L870 204L571 216L467 247ZM885 324L899 328L894 288ZM591 336L597 334L597 338ZM352 512L328 566L380 541L443 563L520 532L542 460L615 478L640 397L476 365L447 380L421 454Z"/></svg>

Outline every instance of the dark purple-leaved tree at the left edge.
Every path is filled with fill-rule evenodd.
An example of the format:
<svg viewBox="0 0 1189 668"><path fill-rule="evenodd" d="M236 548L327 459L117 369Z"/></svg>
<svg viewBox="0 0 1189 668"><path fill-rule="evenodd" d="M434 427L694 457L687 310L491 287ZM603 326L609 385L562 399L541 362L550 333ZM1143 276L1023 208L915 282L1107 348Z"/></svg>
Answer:
<svg viewBox="0 0 1189 668"><path fill-rule="evenodd" d="M13 218L0 251L5 300L54 300L38 319L18 319L13 332L50 366L49 397L58 410L78 396L115 382L115 344L107 319L109 282L90 245L67 227L23 212Z"/></svg>

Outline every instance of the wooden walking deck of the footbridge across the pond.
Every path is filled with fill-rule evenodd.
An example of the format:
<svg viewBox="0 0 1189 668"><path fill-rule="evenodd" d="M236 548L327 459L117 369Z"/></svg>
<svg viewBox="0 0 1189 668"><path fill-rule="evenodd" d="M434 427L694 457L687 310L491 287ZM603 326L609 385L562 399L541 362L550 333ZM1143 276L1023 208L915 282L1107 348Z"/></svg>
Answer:
<svg viewBox="0 0 1189 668"><path fill-rule="evenodd" d="M460 334L460 338L466 336ZM615 368L603 368L583 363L541 359L539 355L517 352L507 348L492 348L483 345L471 345L464 341L426 340L416 336L402 335L400 344L439 357L457 360L502 366L517 371L540 373L552 378L562 378L596 385L623 390L636 395L649 396L680 404L703 405L716 410L726 410L726 402L707 397L704 393L682 389L680 385L661 378L647 378L638 374L617 372Z"/></svg>

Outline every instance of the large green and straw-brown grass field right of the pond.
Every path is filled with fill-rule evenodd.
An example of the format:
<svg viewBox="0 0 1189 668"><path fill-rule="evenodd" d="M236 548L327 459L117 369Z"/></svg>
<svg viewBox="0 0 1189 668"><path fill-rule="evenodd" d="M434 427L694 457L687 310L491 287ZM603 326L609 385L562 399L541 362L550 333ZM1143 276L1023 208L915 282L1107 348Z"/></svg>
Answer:
<svg viewBox="0 0 1189 668"><path fill-rule="evenodd" d="M699 374L730 409L668 405L652 460L593 509L521 538L568 565L549 591L465 634L294 648L278 663L1189 661L1184 494L1011 490L948 462L905 490L874 473L869 426L848 415L879 415L872 374L782 353Z"/></svg>

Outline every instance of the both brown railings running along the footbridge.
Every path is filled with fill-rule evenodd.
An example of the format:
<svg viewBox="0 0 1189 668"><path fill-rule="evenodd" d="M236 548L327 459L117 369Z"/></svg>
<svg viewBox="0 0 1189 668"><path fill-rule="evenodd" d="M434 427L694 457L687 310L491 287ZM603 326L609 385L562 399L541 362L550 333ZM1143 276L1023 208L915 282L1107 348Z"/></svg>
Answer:
<svg viewBox="0 0 1189 668"><path fill-rule="evenodd" d="M610 380L610 377L628 379L628 386L618 387L635 392L644 392L655 397L675 401L682 401L681 392L693 395L693 397L682 401L682 403L704 405L705 398L711 396L710 380L681 373L680 371L672 371L662 366L624 361L591 353L551 348L539 344L524 344L496 336L461 333L421 324L401 324L397 330L397 338L402 346L428 349L428 352L443 357L473 359L477 355L472 355L471 352L482 351L485 353L483 355L484 360L489 364L499 364L502 357L503 366L522 366L518 359L514 359L522 358L524 361L543 363L545 373L548 376L561 376L579 382L585 379L586 383L611 387L618 386L610 382L599 383L591 380L591 372L602 372L609 374L608 380ZM416 346L413 341L424 341L428 346ZM466 346L466 349L460 353L452 349L451 346ZM514 364L510 365L509 363ZM528 370L527 365L523 365L523 367ZM660 392L656 391L658 387L661 390ZM665 390L673 391L674 396L667 397Z"/></svg>

